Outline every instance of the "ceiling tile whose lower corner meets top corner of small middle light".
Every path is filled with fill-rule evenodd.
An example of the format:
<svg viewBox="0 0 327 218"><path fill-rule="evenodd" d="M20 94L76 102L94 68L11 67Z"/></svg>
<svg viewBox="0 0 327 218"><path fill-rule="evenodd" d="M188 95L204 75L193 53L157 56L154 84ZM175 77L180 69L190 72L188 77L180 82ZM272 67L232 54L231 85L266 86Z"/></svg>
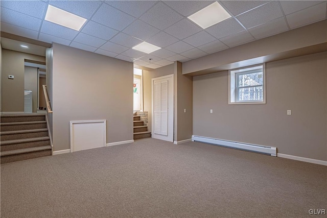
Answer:
<svg viewBox="0 0 327 218"><path fill-rule="evenodd" d="M123 30L123 32L138 39L147 40L151 36L160 32L160 30L148 25L141 20L135 20L131 25Z"/></svg>

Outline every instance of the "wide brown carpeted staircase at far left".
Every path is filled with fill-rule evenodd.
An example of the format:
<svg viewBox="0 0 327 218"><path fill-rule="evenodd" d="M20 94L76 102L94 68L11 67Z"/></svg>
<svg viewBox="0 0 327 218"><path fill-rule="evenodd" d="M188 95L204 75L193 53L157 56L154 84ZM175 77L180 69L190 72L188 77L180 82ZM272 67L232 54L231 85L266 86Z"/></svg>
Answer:
<svg viewBox="0 0 327 218"><path fill-rule="evenodd" d="M52 153L45 114L1 115L1 163L10 163Z"/></svg>

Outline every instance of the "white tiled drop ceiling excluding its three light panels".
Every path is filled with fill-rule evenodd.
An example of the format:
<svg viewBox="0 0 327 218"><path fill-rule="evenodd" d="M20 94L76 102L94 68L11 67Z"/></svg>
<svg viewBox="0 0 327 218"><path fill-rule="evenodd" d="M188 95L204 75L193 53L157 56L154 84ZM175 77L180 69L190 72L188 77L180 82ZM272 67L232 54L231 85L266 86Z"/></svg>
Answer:
<svg viewBox="0 0 327 218"><path fill-rule="evenodd" d="M214 2L1 1L1 31L158 68L326 19L327 1L218 1L231 17L207 29L187 18ZM46 21L48 5L87 21L80 31ZM162 49L132 49L143 41Z"/></svg>

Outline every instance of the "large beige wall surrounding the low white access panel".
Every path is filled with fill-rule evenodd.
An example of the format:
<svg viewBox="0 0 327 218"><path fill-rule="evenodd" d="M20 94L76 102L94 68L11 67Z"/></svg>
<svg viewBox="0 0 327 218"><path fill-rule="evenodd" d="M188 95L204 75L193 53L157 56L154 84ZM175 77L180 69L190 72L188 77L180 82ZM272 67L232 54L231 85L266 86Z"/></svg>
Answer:
<svg viewBox="0 0 327 218"><path fill-rule="evenodd" d="M69 121L107 120L107 143L133 139L133 63L53 44L54 151L70 149Z"/></svg>

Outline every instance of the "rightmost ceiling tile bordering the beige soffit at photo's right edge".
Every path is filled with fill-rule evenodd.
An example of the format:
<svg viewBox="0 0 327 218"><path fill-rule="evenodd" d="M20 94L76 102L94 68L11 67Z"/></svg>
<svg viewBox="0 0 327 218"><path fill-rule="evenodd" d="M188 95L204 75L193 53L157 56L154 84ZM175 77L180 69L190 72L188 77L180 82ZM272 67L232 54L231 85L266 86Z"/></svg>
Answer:
<svg viewBox="0 0 327 218"><path fill-rule="evenodd" d="M290 28L297 28L326 18L326 2L286 15Z"/></svg>

